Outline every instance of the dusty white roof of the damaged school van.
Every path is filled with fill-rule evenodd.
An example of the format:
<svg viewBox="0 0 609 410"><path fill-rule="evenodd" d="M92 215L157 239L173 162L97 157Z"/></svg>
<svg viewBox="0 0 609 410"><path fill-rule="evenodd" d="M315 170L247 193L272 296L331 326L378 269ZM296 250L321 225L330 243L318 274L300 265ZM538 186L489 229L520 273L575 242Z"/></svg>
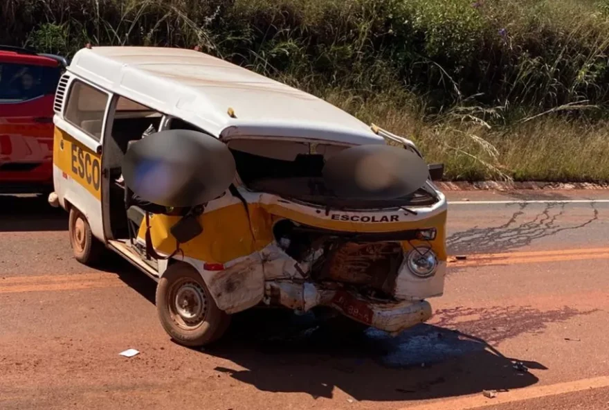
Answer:
<svg viewBox="0 0 609 410"><path fill-rule="evenodd" d="M384 142L365 123L320 98L194 50L94 46L78 51L69 71L221 138ZM237 118L228 115L229 107Z"/></svg>

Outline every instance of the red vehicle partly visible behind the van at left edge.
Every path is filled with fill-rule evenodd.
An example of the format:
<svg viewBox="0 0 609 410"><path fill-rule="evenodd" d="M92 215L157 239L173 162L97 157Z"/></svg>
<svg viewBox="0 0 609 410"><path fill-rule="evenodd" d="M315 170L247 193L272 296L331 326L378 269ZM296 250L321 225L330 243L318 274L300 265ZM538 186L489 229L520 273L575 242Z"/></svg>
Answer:
<svg viewBox="0 0 609 410"><path fill-rule="evenodd" d="M0 193L53 190L53 99L66 65L0 46Z"/></svg>

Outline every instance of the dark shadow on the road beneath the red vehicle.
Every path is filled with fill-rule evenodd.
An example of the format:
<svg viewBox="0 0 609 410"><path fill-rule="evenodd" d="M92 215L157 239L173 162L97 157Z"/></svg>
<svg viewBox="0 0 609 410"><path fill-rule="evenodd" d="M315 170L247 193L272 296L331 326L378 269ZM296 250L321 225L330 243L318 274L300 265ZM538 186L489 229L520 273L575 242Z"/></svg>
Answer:
<svg viewBox="0 0 609 410"><path fill-rule="evenodd" d="M0 195L0 232L67 231L68 214L43 195Z"/></svg>

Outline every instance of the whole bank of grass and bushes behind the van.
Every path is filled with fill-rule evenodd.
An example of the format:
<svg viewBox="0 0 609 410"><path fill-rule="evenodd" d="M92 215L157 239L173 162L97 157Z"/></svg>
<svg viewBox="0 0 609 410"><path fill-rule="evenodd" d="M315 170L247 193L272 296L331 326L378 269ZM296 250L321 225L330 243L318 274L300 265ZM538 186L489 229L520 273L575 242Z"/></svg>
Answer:
<svg viewBox="0 0 609 410"><path fill-rule="evenodd" d="M0 43L193 47L415 140L448 179L609 181L609 0L5 0Z"/></svg>

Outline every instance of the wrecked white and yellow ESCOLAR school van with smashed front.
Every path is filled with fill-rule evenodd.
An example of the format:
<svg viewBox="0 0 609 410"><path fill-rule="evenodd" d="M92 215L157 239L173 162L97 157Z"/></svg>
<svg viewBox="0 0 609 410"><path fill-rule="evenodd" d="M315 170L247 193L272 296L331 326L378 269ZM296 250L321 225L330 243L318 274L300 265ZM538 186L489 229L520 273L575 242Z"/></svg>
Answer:
<svg viewBox="0 0 609 410"><path fill-rule="evenodd" d="M427 168L392 199L315 188L343 150L398 144L420 156L415 145L308 93L194 50L87 47L60 79L54 123L49 202L69 211L75 258L108 248L156 280L158 316L180 344L215 341L231 314L269 305L397 334L443 293L446 199ZM149 130L221 141L232 183L187 213L133 204L123 161ZM178 234L193 215L196 229Z"/></svg>

